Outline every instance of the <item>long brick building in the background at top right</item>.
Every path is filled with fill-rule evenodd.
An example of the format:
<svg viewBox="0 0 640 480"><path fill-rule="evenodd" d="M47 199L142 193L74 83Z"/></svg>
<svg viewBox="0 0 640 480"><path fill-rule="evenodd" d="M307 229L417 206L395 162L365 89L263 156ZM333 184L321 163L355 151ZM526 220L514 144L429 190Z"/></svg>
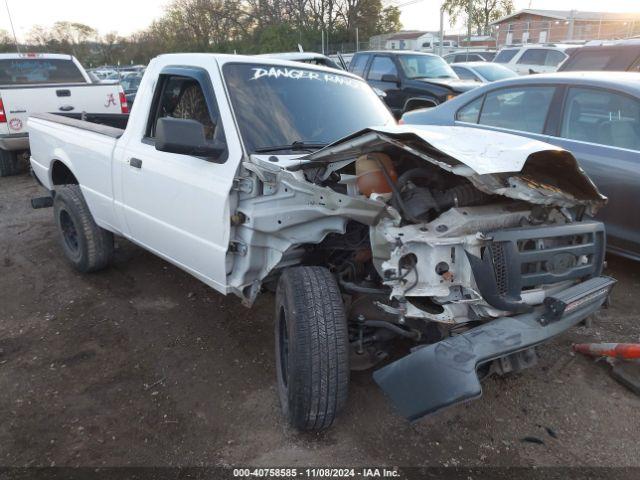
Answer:
<svg viewBox="0 0 640 480"><path fill-rule="evenodd" d="M640 13L525 9L491 23L497 46L616 40L640 34Z"/></svg>

